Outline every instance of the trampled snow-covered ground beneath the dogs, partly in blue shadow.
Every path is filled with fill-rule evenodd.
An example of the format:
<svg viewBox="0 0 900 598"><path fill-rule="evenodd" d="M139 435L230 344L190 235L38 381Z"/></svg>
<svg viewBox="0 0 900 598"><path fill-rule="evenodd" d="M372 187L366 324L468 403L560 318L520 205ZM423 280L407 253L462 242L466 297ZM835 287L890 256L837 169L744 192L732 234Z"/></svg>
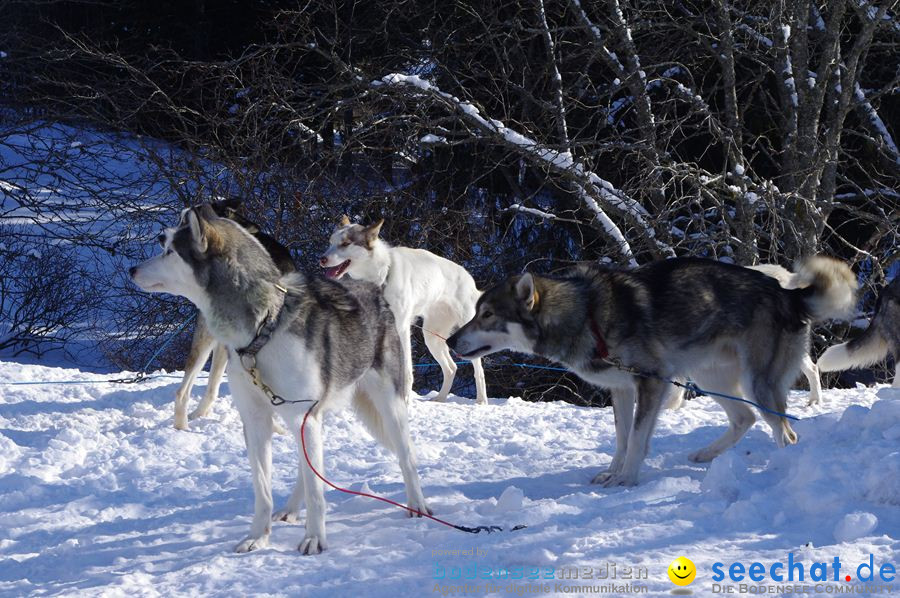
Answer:
<svg viewBox="0 0 900 598"><path fill-rule="evenodd" d="M3 383L108 378L0 363ZM686 456L720 434L725 418L708 399L691 401L663 412L640 485L614 489L587 483L613 451L611 410L423 399L411 405L411 426L435 514L528 527L467 535L329 491L329 550L304 557L295 550L301 524L275 525L268 549L232 552L252 509L240 421L223 398L215 417L174 430L178 380L0 385L0 594L430 596L440 595L435 584L449 592L466 582L447 579L454 567L527 577L531 568L559 575L614 563L618 583L668 595L666 568L684 555L698 569L689 588L710 595L715 562L768 567L793 552L808 571L840 557L841 575L854 579L870 554L876 569L900 566L900 390L826 391L826 405L813 408L795 393L800 444L777 450L757 424L710 466ZM360 430L350 414L326 420L326 475L402 501L395 461ZM277 437L274 460L278 508L296 447ZM453 550L477 556L437 555ZM647 578L622 580L626 567L645 567ZM492 583L502 588L495 595L515 595L506 592L537 582ZM549 584L541 595L571 595L541 583Z"/></svg>

